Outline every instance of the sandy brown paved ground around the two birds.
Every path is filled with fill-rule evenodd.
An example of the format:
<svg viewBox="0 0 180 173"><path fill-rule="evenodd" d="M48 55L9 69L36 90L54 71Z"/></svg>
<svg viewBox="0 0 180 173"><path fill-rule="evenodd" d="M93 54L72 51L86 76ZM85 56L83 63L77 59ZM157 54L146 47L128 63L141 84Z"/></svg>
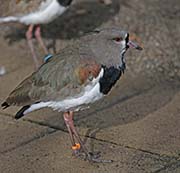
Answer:
<svg viewBox="0 0 180 173"><path fill-rule="evenodd" d="M0 14L5 14L2 6ZM179 0L114 0L110 6L77 0L44 26L52 53L98 27L118 26L141 38L144 51L127 53L127 71L112 93L75 116L90 151L114 162L74 158L61 113L43 109L16 121L19 108L13 107L0 110L0 172L179 173L179 18ZM0 65L7 70L0 76L2 102L35 67L25 28L1 25L0 31ZM43 52L36 47L41 61Z"/></svg>

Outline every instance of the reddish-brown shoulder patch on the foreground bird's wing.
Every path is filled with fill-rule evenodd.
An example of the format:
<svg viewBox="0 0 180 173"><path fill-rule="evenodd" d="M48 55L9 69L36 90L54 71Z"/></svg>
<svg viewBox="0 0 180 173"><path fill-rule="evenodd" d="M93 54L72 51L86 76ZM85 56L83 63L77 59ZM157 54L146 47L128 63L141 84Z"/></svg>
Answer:
<svg viewBox="0 0 180 173"><path fill-rule="evenodd" d="M95 62L85 62L76 69L76 74L80 84L84 84L88 79L96 78L101 70L101 65Z"/></svg>

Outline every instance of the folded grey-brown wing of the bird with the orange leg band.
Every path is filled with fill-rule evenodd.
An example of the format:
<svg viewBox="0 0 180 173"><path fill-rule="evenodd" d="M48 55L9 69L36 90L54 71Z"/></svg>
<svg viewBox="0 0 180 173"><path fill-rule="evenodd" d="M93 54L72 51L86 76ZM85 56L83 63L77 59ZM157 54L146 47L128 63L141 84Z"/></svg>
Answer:
<svg viewBox="0 0 180 173"><path fill-rule="evenodd" d="M24 106L39 101L63 100L83 90L100 72L100 64L82 59L78 50L68 49L52 57L11 92L6 102Z"/></svg>

